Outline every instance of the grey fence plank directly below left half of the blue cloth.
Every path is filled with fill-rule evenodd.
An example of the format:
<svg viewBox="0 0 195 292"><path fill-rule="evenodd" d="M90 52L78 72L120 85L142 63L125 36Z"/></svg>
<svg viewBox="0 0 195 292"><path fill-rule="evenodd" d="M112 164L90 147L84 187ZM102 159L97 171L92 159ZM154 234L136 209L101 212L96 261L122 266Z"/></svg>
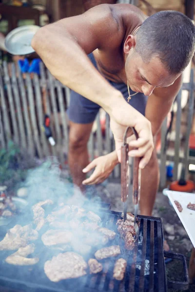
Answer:
<svg viewBox="0 0 195 292"><path fill-rule="evenodd" d="M43 153L42 153L40 140L39 140L39 131L38 131L37 121L36 121L33 88L32 88L32 82L31 82L31 77L29 73L26 74L26 87L27 87L28 101L29 101L29 106L30 106L30 116L31 116L31 122L32 122L34 142L37 148L39 158L41 159L43 158Z"/></svg>

